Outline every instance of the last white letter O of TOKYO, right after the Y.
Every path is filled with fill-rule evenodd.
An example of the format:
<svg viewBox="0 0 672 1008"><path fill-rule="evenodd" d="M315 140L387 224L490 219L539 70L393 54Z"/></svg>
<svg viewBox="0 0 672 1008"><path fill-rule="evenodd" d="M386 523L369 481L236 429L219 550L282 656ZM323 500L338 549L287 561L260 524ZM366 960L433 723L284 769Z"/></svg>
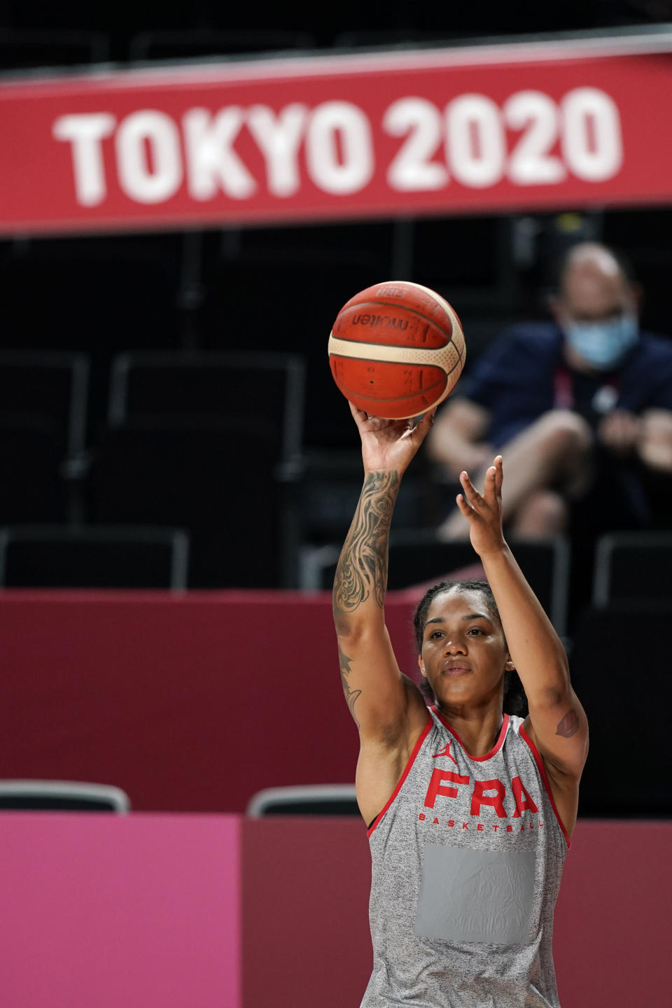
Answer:
<svg viewBox="0 0 672 1008"><path fill-rule="evenodd" d="M318 105L310 117L305 153L315 185L338 196L358 193L374 173L367 116L351 102Z"/></svg>

